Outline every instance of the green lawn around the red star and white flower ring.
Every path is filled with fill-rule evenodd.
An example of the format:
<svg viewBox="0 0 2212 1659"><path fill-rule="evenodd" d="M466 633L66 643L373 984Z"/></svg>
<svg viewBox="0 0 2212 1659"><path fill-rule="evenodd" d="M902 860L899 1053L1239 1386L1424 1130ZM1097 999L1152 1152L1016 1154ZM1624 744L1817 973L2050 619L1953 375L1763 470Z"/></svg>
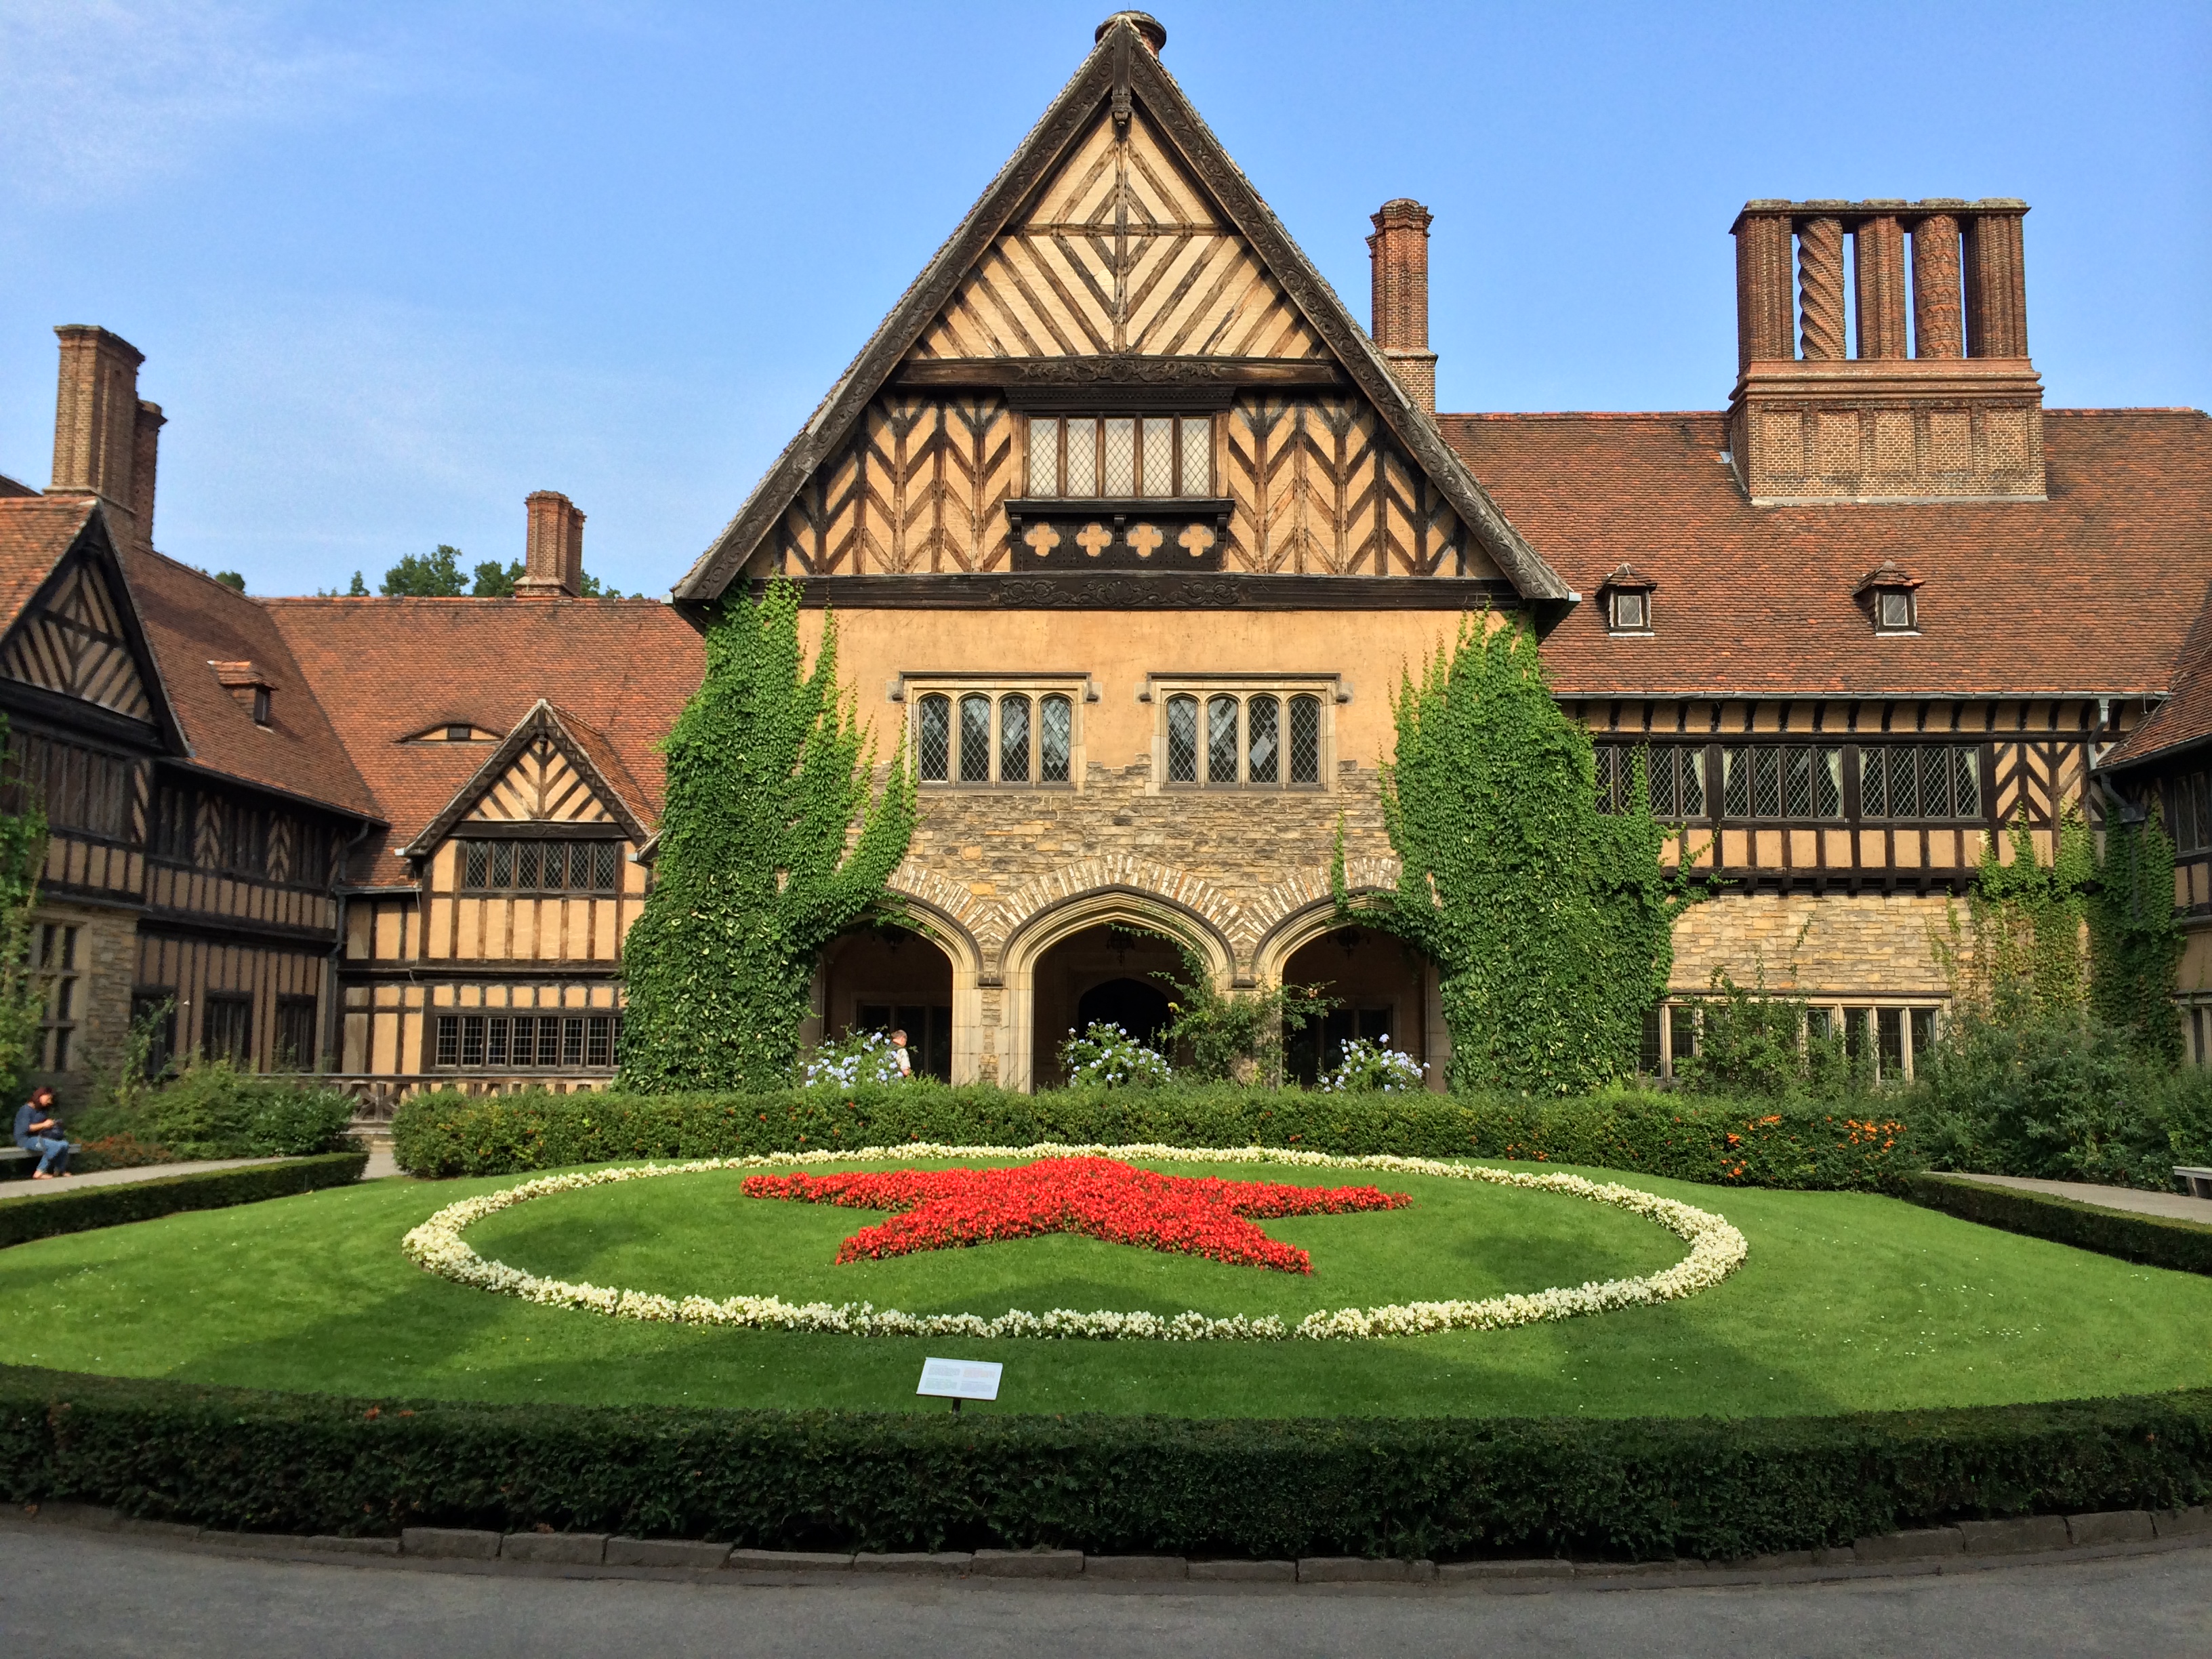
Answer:
<svg viewBox="0 0 2212 1659"><path fill-rule="evenodd" d="M1164 1166L1232 1179L1365 1172ZM1601 1175L1590 1170L1590 1175ZM0 1360L243 1387L478 1400L918 1405L925 1349L1006 1363L1000 1409L1805 1413L2212 1385L2212 1279L2135 1267L1891 1199L1632 1186L1719 1210L1750 1261L1717 1290L1513 1332L1376 1343L918 1343L672 1329L533 1307L400 1256L407 1228L513 1177L374 1181L0 1252ZM1391 1177L1407 1210L1263 1223L1314 1274L1053 1237L836 1267L874 1217L763 1203L734 1175L518 1206L469 1230L531 1272L668 1294L774 1292L909 1312L1303 1314L1650 1272L1688 1245L1555 1194Z"/></svg>

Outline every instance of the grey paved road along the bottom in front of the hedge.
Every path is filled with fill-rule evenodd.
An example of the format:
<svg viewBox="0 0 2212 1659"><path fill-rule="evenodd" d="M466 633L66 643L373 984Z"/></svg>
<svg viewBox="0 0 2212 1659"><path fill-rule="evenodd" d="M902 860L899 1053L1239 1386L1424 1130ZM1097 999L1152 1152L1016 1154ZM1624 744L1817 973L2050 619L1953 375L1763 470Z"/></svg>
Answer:
<svg viewBox="0 0 2212 1659"><path fill-rule="evenodd" d="M2212 1652L2212 1548L1730 1588L564 1579L0 1526L0 1639L62 1655L2062 1659Z"/></svg>

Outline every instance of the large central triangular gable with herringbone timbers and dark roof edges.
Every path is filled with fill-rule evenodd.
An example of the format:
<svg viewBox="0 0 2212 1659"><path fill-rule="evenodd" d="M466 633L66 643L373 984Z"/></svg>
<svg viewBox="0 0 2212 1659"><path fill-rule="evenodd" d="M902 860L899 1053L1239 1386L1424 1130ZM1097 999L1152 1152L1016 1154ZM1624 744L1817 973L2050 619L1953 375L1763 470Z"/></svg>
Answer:
<svg viewBox="0 0 2212 1659"><path fill-rule="evenodd" d="M1157 35L1135 13L1102 24L679 602L770 575L838 604L1577 597L1159 66Z"/></svg>

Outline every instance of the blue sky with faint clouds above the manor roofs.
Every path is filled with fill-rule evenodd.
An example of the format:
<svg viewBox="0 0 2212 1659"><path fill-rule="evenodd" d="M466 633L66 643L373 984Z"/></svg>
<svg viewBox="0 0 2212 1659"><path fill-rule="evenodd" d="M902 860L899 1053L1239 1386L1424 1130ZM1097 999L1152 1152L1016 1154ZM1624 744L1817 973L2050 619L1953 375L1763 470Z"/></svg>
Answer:
<svg viewBox="0 0 2212 1659"><path fill-rule="evenodd" d="M146 352L157 540L257 593L522 498L661 593L1108 7L0 0L0 471L55 323ZM1447 409L1719 407L1747 197L2017 195L2053 405L2212 403L2212 7L1172 4L1166 64L1367 310L1436 210Z"/></svg>

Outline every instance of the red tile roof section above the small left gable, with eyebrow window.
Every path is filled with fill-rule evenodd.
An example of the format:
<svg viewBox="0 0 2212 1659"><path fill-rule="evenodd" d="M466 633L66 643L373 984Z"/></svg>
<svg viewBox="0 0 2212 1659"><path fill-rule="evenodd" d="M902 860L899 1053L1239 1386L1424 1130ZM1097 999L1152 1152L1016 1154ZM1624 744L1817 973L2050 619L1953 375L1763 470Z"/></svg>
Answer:
<svg viewBox="0 0 2212 1659"><path fill-rule="evenodd" d="M655 743L706 672L699 635L657 599L263 599L392 825L356 878L407 880L394 854L484 763L482 743L407 743L434 726L502 737L538 706L586 726L593 763L650 821ZM246 655L246 653L239 653ZM595 739L595 741L593 741ZM619 772L617 772L619 768ZM635 790L635 794L630 794Z"/></svg>

